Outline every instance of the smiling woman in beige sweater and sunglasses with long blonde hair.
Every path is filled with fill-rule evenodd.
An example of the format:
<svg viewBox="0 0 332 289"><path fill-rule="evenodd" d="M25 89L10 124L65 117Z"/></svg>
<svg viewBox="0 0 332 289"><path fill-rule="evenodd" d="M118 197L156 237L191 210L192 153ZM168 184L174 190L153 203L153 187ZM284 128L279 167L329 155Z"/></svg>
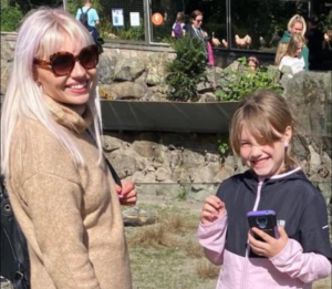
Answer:
<svg viewBox="0 0 332 289"><path fill-rule="evenodd" d="M27 237L33 289L131 289L118 197L103 156L98 53L68 12L22 23L1 117L1 169Z"/></svg>

